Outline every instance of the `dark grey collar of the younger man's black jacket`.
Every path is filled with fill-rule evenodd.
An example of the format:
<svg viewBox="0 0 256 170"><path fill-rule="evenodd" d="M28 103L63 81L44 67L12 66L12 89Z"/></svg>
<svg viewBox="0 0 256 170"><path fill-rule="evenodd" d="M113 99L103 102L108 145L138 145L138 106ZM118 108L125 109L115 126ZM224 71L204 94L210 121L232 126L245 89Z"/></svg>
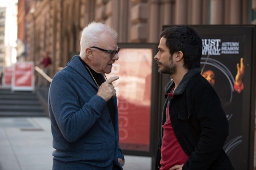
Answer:
<svg viewBox="0 0 256 170"><path fill-rule="evenodd" d="M179 86L175 89L173 95L179 95L183 94L183 91L186 88L187 83L189 80L196 74L201 74L201 69L198 67L190 68L189 71L183 76L181 82L179 83ZM171 88L175 86L173 79L170 79L170 81L165 86L165 92L166 94L171 91Z"/></svg>

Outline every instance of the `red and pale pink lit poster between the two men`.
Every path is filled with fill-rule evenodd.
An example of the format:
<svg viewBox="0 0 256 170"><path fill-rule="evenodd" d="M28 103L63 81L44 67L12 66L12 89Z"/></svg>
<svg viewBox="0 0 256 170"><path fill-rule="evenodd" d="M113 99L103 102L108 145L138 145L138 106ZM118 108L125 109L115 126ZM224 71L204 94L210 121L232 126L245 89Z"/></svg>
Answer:
<svg viewBox="0 0 256 170"><path fill-rule="evenodd" d="M154 95L152 81L157 67L153 60L157 45L118 43L119 59L106 75L107 79L119 76L113 85L118 99L119 145L125 154L151 156L153 153L151 122L155 113L151 96Z"/></svg>

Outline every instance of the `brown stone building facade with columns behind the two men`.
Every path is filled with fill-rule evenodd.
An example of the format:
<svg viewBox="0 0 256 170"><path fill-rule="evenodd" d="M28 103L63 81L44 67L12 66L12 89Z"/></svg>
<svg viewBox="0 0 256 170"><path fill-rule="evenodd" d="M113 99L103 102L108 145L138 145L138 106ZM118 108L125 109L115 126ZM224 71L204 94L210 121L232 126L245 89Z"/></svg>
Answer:
<svg viewBox="0 0 256 170"><path fill-rule="evenodd" d="M163 25L256 24L256 0L43 0L31 1L26 60L47 50L53 75L79 52L83 28L92 21L117 30L118 43L158 42Z"/></svg>

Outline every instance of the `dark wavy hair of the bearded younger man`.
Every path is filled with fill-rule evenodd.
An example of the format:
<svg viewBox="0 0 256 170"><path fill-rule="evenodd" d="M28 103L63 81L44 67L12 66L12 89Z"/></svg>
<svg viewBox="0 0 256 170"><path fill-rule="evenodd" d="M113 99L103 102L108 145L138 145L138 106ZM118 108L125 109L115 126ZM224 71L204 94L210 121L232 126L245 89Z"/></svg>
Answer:
<svg viewBox="0 0 256 170"><path fill-rule="evenodd" d="M202 56L202 38L193 27L178 25L163 31L160 37L166 38L170 54L182 51L184 67L200 67Z"/></svg>

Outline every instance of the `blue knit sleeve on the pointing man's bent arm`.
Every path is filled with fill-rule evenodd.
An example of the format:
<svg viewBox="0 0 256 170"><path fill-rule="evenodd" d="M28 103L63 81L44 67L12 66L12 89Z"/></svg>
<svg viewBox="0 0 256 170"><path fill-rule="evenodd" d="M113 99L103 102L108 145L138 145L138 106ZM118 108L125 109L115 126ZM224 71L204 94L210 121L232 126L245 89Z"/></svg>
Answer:
<svg viewBox="0 0 256 170"><path fill-rule="evenodd" d="M49 112L53 113L59 130L70 143L85 135L106 107L103 98L81 90L84 87L77 81L71 76L57 75L49 90Z"/></svg>

